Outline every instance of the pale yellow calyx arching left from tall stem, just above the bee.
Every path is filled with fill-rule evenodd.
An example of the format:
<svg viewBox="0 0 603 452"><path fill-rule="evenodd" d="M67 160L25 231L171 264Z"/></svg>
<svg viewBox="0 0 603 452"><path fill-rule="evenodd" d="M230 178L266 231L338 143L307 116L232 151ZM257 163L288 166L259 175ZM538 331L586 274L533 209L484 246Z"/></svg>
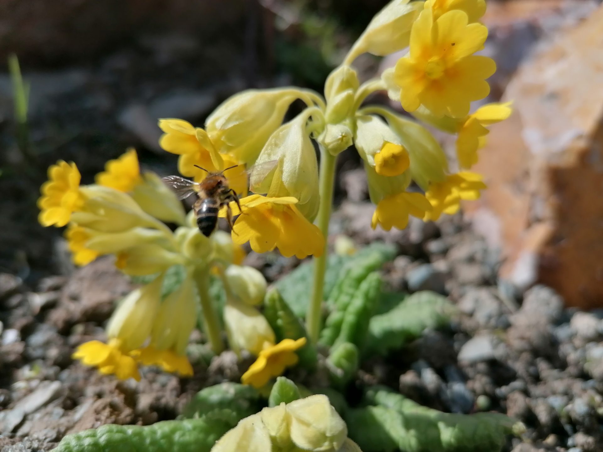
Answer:
<svg viewBox="0 0 603 452"><path fill-rule="evenodd" d="M305 94L289 87L238 93L207 118L207 134L219 152L251 164L297 98L305 98Z"/></svg>

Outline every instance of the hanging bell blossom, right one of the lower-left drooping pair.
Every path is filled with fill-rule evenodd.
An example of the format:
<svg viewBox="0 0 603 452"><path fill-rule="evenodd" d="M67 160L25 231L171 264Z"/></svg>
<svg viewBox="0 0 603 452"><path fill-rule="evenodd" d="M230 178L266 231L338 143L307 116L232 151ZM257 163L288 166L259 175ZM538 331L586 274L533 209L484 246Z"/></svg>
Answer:
<svg viewBox="0 0 603 452"><path fill-rule="evenodd" d="M144 365L157 365L183 377L193 374L186 357L191 332L197 323L197 303L191 275L162 301L151 332L151 342L134 356Z"/></svg>

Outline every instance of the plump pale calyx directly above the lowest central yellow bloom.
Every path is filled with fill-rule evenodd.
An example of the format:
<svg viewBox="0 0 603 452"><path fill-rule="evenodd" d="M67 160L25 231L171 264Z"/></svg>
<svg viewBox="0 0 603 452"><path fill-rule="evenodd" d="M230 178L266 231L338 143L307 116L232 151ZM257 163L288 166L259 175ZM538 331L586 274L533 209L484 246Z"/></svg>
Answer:
<svg viewBox="0 0 603 452"><path fill-rule="evenodd" d="M224 324L230 348L237 354L244 349L258 356L264 348L276 341L266 318L253 306L238 300L227 300L224 306Z"/></svg>

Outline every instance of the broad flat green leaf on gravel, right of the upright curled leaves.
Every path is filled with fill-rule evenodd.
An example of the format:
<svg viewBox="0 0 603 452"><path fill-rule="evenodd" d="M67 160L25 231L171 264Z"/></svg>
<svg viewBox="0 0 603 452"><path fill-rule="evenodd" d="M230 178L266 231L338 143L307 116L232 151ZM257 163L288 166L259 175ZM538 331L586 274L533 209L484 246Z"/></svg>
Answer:
<svg viewBox="0 0 603 452"><path fill-rule="evenodd" d="M455 312L452 304L435 292L415 292L396 307L373 316L368 325L366 354L386 354L420 337L427 328L442 328Z"/></svg>

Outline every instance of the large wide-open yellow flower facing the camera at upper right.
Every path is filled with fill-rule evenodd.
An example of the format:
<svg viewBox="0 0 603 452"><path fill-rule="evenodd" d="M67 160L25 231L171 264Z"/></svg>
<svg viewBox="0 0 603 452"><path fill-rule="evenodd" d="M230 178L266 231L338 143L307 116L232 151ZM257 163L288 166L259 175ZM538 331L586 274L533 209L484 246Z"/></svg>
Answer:
<svg viewBox="0 0 603 452"><path fill-rule="evenodd" d="M486 78L494 74L494 60L473 55L484 47L488 29L468 24L464 11L452 10L432 19L421 12L412 26L410 52L396 63L394 80L406 111L422 104L434 115L463 118L471 101L490 93Z"/></svg>

